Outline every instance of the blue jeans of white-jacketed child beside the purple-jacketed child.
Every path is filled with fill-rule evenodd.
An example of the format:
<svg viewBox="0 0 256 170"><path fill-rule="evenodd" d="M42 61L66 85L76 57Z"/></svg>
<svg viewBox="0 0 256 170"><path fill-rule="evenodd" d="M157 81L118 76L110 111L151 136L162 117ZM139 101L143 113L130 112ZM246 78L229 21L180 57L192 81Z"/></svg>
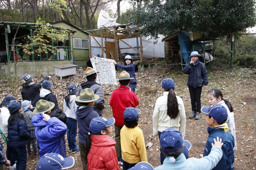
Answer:
<svg viewBox="0 0 256 170"><path fill-rule="evenodd" d="M76 149L77 123L75 119L67 118L67 142L68 147L73 151Z"/></svg>

